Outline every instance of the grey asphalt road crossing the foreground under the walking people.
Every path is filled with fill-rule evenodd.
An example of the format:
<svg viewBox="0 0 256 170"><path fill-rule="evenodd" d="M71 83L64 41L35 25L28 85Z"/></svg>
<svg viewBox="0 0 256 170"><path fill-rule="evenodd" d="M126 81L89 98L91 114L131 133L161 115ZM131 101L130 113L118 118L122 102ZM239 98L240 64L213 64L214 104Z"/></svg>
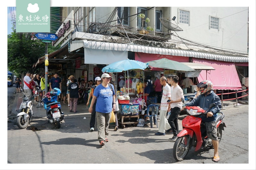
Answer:
<svg viewBox="0 0 256 170"><path fill-rule="evenodd" d="M225 114L224 122L227 128L222 131L222 140L219 145L221 161L219 163L242 164L242 167L248 165L248 106L241 105L239 108L231 106L222 110ZM180 115L179 117L180 130L181 120L185 116ZM47 119L33 118L30 126L35 126L38 129L33 131L30 127L19 129L15 119L9 119L7 123L8 164L85 163L98 165L100 163L119 163L125 164L125 166L121 165L120 169L124 167L137 169L136 167L139 166L132 166L135 163L145 164L145 167L151 168L155 167L155 164L161 164L164 169L166 164L170 163L174 163L173 167L180 163L214 163L212 161L213 149L200 149L194 152L194 148L189 151L185 160L176 162L172 156L174 143L168 140L172 137L172 133L168 132L165 136L156 136L154 134L158 129L150 128L150 126L130 126L114 131L114 125L111 124L109 142L100 147L97 140L97 128L94 132L90 132L89 121L89 113L69 114L65 116L61 128L56 129L55 126L47 123ZM77 167L81 166L78 165ZM109 168L111 169L111 167L100 169Z"/></svg>

